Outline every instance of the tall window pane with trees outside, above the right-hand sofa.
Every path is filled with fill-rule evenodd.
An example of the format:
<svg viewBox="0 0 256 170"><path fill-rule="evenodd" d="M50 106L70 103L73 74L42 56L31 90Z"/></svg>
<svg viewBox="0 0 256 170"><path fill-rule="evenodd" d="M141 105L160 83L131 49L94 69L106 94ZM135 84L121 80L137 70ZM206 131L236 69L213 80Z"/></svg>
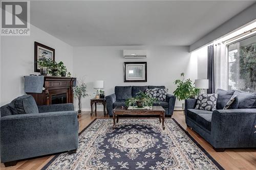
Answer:
<svg viewBox="0 0 256 170"><path fill-rule="evenodd" d="M256 36L227 45L228 89L256 92Z"/></svg>

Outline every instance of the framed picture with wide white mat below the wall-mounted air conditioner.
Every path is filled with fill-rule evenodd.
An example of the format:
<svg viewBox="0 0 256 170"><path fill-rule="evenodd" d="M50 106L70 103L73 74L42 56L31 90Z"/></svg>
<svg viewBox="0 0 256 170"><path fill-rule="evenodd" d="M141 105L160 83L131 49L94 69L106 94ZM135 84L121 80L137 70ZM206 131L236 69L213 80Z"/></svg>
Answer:
<svg viewBox="0 0 256 170"><path fill-rule="evenodd" d="M146 62L124 62L124 82L146 82Z"/></svg>

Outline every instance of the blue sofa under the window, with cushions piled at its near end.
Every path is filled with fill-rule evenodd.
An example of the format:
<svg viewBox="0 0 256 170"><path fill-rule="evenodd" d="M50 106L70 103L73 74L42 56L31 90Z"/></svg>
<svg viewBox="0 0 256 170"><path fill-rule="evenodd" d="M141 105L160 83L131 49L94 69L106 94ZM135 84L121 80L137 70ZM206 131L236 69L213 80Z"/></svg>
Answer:
<svg viewBox="0 0 256 170"><path fill-rule="evenodd" d="M256 93L218 89L217 110L194 109L196 99L185 100L185 121L217 152L227 148L256 148ZM223 109L231 96L237 101L231 109Z"/></svg>

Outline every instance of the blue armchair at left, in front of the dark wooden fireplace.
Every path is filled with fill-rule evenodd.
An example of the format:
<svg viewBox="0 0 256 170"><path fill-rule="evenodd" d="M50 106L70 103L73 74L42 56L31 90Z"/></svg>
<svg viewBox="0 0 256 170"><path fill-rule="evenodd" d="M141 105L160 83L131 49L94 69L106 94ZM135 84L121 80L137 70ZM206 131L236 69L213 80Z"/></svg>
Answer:
<svg viewBox="0 0 256 170"><path fill-rule="evenodd" d="M73 104L36 106L31 95L23 95L1 107L1 162L78 148L78 122Z"/></svg>

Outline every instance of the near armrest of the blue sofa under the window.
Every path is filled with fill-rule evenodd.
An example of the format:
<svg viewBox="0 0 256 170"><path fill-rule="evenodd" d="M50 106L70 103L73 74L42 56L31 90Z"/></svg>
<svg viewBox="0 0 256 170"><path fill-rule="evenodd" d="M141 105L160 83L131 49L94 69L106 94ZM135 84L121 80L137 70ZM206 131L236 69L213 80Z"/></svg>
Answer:
<svg viewBox="0 0 256 170"><path fill-rule="evenodd" d="M211 136L215 148L256 147L256 109L215 110Z"/></svg>

